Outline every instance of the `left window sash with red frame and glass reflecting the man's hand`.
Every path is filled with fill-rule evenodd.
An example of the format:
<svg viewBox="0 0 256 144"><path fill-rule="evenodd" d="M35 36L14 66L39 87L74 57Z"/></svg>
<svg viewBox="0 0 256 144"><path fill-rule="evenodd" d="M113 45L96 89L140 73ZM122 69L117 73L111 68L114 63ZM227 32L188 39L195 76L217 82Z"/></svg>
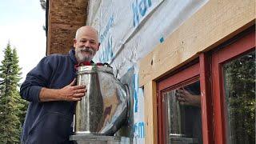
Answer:
<svg viewBox="0 0 256 144"><path fill-rule="evenodd" d="M158 83L160 143L202 143L201 90L199 64L178 70ZM158 125L158 126L159 126Z"/></svg>

